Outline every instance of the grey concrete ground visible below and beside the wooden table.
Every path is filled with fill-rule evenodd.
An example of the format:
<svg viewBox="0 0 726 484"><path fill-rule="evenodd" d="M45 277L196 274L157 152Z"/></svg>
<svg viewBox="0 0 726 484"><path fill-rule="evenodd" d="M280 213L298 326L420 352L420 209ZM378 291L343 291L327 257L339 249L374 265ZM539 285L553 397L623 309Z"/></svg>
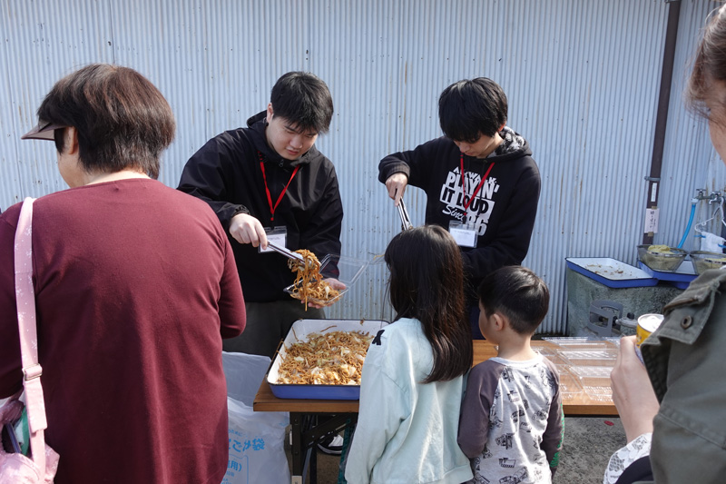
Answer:
<svg viewBox="0 0 726 484"><path fill-rule="evenodd" d="M565 417L563 449L553 484L601 484L608 459L625 443L620 419ZM319 484L338 482L339 463L339 457L318 452Z"/></svg>

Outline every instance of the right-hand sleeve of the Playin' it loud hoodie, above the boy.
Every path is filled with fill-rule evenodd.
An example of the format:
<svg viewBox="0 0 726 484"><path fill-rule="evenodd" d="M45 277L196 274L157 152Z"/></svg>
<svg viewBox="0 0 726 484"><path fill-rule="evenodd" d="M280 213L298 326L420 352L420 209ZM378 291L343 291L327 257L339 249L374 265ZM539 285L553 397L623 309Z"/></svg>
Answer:
<svg viewBox="0 0 726 484"><path fill-rule="evenodd" d="M525 170L507 201L495 239L484 247L462 252L465 270L471 278L479 280L505 265L522 263L535 228L540 186L536 167Z"/></svg>

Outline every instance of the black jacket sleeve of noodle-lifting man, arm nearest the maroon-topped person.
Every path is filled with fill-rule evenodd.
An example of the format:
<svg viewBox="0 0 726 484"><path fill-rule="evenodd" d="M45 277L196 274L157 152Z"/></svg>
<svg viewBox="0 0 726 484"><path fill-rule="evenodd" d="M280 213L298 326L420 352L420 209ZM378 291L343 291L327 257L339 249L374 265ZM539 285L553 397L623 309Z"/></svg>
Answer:
<svg viewBox="0 0 726 484"><path fill-rule="evenodd" d="M231 218L237 213L250 213L244 205L226 202L233 189L229 183L236 180L233 163L240 163L240 148L233 145L226 133L212 138L184 166L178 190L189 193L204 202L219 217L225 231L230 228Z"/></svg>

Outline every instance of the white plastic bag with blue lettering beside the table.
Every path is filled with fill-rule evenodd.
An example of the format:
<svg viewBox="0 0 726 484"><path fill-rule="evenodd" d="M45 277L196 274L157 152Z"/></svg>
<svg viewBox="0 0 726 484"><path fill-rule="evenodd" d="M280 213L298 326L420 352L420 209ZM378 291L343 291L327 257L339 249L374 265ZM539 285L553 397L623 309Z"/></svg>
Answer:
<svg viewBox="0 0 726 484"><path fill-rule="evenodd" d="M270 358L222 352L227 377L230 459L222 484L289 483L285 455L288 412L253 411Z"/></svg>

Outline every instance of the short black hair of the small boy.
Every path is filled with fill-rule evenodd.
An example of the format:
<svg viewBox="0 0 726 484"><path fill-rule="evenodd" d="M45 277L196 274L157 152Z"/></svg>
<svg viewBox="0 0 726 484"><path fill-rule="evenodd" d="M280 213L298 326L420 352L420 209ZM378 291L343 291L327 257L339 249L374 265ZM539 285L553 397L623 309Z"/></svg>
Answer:
<svg viewBox="0 0 726 484"><path fill-rule="evenodd" d="M547 284L535 272L509 265L491 272L479 285L479 302L486 316L495 312L520 334L534 334L550 306Z"/></svg>

